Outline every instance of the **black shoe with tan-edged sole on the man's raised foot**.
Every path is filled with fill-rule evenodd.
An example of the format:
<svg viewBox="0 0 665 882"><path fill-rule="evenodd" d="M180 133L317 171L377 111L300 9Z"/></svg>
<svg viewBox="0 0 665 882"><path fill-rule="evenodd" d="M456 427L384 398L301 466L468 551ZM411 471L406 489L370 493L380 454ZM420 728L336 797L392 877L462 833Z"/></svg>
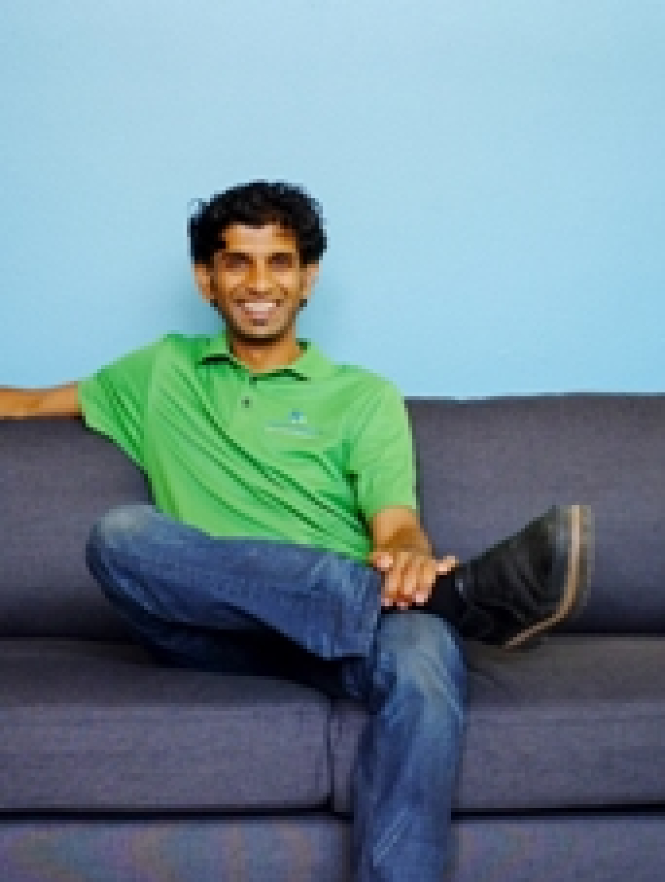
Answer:
<svg viewBox="0 0 665 882"><path fill-rule="evenodd" d="M581 609L593 558L593 512L555 507L452 573L466 639L514 649Z"/></svg>

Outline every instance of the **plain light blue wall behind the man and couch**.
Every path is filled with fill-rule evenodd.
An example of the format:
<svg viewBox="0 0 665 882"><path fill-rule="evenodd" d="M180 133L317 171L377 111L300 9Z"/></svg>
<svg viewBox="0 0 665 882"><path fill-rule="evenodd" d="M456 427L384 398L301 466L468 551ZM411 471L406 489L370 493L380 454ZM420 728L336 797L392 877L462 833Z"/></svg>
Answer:
<svg viewBox="0 0 665 882"><path fill-rule="evenodd" d="M0 385L211 331L191 199L306 183L302 333L407 394L665 386L661 0L0 11Z"/></svg>

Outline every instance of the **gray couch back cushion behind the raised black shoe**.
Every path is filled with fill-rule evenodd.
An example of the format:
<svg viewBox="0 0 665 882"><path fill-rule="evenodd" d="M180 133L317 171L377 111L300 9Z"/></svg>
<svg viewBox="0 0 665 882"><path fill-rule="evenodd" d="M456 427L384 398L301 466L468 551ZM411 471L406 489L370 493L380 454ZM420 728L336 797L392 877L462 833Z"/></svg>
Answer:
<svg viewBox="0 0 665 882"><path fill-rule="evenodd" d="M425 524L468 558L550 505L593 506L596 566L576 631L665 628L665 395L409 403Z"/></svg>

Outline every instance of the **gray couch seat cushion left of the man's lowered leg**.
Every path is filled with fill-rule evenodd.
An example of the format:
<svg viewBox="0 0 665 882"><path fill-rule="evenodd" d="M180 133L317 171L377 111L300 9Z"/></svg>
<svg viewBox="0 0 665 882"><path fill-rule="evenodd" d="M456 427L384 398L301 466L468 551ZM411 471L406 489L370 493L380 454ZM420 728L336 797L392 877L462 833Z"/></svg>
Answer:
<svg viewBox="0 0 665 882"><path fill-rule="evenodd" d="M138 647L0 641L0 812L271 811L329 798L329 702Z"/></svg>

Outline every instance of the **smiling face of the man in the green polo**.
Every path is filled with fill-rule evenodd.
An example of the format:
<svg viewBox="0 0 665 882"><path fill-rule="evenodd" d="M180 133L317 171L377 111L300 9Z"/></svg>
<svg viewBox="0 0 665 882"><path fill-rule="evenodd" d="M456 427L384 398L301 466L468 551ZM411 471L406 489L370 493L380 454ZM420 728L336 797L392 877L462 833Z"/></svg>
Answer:
<svg viewBox="0 0 665 882"><path fill-rule="evenodd" d="M272 343L294 334L316 267L300 264L298 242L278 224L227 228L209 269L209 296L233 340Z"/></svg>

